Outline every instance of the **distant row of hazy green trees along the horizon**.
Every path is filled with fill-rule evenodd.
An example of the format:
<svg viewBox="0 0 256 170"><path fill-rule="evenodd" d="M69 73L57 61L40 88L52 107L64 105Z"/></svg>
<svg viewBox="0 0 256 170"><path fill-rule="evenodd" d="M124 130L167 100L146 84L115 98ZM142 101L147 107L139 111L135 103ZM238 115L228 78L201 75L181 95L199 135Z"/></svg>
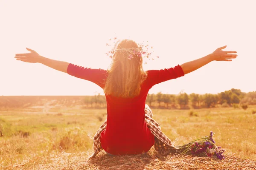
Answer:
<svg viewBox="0 0 256 170"><path fill-rule="evenodd" d="M148 94L146 103L152 108L215 108L230 107L233 105L256 105L256 91L244 93L240 89L230 89L218 94ZM106 107L105 96L96 94L86 96L84 99L86 107Z"/></svg>

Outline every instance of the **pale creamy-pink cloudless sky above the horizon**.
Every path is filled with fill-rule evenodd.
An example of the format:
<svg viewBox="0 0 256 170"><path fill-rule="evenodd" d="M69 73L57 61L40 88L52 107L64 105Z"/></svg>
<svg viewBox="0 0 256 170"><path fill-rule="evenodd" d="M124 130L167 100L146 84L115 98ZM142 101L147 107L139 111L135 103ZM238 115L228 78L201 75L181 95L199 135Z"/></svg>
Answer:
<svg viewBox="0 0 256 170"><path fill-rule="evenodd" d="M254 0L0 0L0 95L94 95L99 86L40 63L14 59L26 47L40 55L107 69L108 39L148 41L145 70L171 68L216 48L237 51L232 62L204 67L155 85L149 93L256 91Z"/></svg>

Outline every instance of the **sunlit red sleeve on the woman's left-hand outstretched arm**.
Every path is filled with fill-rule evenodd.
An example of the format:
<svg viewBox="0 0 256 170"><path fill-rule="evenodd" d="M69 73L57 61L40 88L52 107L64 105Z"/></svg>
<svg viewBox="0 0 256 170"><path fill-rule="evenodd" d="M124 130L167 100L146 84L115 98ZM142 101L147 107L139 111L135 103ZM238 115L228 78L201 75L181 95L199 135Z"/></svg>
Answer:
<svg viewBox="0 0 256 170"><path fill-rule="evenodd" d="M67 67L67 74L71 76L85 79L90 82L94 82L99 85L101 88L105 85L105 79L107 78L107 71L103 69L92 69L84 68L79 65L69 64Z"/></svg>

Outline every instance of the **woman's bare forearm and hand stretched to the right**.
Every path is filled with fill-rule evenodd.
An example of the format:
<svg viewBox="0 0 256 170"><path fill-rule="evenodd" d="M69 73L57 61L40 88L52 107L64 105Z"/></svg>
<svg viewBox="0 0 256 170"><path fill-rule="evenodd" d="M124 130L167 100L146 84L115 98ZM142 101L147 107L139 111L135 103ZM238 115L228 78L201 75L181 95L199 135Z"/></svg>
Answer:
<svg viewBox="0 0 256 170"><path fill-rule="evenodd" d="M184 74L188 74L192 71L197 70L198 68L203 67L204 65L207 65L209 62L212 61L232 61L232 59L237 57L236 54L232 54L236 53L236 51L222 51L222 49L226 47L227 45L220 47L217 50L215 50L212 54L209 54L200 59L195 59L193 61L186 62L180 65L180 67L182 68Z"/></svg>

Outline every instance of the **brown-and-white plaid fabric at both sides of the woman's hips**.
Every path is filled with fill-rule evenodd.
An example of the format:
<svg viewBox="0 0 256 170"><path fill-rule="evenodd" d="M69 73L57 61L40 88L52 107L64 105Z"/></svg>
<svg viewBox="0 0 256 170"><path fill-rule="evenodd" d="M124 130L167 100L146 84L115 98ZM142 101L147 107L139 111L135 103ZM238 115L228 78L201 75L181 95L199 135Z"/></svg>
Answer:
<svg viewBox="0 0 256 170"><path fill-rule="evenodd" d="M152 119L152 111L148 105L145 105L145 122L148 126L148 129L154 135L154 149L160 153L174 153L175 147L172 146L172 141L161 131L160 124ZM96 156L100 153L103 148L100 144L100 137L103 130L105 130L107 125L107 120L99 127L99 130L93 137L93 149L94 153L91 157Z"/></svg>

